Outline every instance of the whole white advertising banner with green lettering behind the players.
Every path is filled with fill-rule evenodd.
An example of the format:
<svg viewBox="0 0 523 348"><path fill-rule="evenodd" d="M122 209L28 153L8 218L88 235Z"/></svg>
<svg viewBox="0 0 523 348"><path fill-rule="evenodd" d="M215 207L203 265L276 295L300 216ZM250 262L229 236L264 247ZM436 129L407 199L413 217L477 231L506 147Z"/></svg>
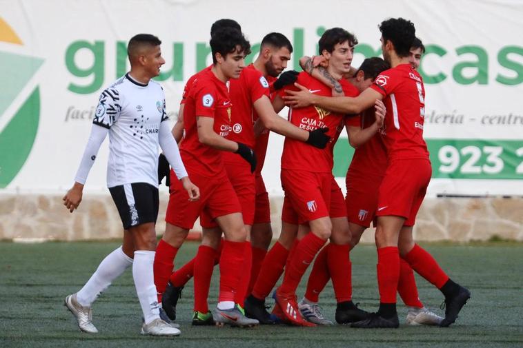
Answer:
<svg viewBox="0 0 523 348"><path fill-rule="evenodd" d="M166 64L157 80L174 124L184 83L212 63L209 30L217 19L241 24L253 45L248 63L265 34L282 32L294 48L288 69L299 70L299 58L317 54L319 37L336 26L359 41L353 66L380 56L377 25L389 17L413 21L426 46L428 195L523 195L517 0L0 0L0 192L59 193L72 185L99 93L128 71L126 43L134 34L163 41ZM263 172L276 196L282 144L271 135ZM333 170L342 187L351 154L344 133ZM106 190L107 158L106 140L86 191Z"/></svg>

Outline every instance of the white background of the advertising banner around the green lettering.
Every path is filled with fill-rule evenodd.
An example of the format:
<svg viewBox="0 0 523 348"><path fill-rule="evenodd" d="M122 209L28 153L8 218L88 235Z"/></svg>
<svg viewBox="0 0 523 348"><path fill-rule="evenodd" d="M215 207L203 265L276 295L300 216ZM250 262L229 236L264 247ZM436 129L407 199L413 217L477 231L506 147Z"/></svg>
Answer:
<svg viewBox="0 0 523 348"><path fill-rule="evenodd" d="M295 45L296 28L303 28L303 53L315 54L319 27L340 26L354 32L360 44L379 48L377 24L388 17L404 17L416 25L417 36L426 45L444 48L443 57L427 54L422 62L426 74L443 72L441 83L426 84L427 114L462 114L462 123L426 121L426 139L509 139L522 140L523 119L511 125L484 125L484 115L519 115L523 117L522 83L505 85L496 81L523 79L523 53L508 57L515 68L504 68L498 54L506 46L522 50L523 1L8 1L0 0L3 19L23 42L0 42L1 52L12 52L43 59L43 65L26 88L14 99L0 119L0 132L9 114L14 113L29 92L39 85L40 123L28 159L4 192L64 192L72 184L77 165L90 132L90 116L99 92L117 79L117 41L128 41L139 32L156 34L162 41L167 61L164 71L172 68L172 43L183 43L183 81L163 81L168 110L178 110L184 83L196 72L196 45L209 39L210 25L220 18L237 20L251 44L259 43L271 31L282 32ZM95 92L78 94L68 90L70 83L89 85L94 76L78 77L68 70L66 52L75 41L103 41L103 84ZM457 54L462 46L479 46L486 52L486 84L463 85L453 78L453 68L462 61L477 61L475 54ZM364 59L357 54L353 65ZM89 68L95 56L79 50L75 64ZM211 62L210 55L206 64ZM289 69L295 68L293 61ZM465 76L477 74L476 68L464 70ZM519 74L519 75L518 75ZM1 90L9 88L2 83ZM69 110L69 113L68 113ZM83 111L83 119L73 119L72 110ZM282 112L286 114L286 112ZM68 116L69 115L69 116ZM77 116L79 114L76 114ZM448 118L450 120L450 118ZM340 139L340 141L345 141ZM106 190L108 141L102 145L86 190ZM282 195L279 184L279 156L283 139L271 135L264 178L270 194ZM1 152L5 149L0 149ZM0 160L1 161L1 160ZM521 157L523 161L523 154ZM488 176L486 176L488 177ZM339 179L343 183L343 179ZM344 184L342 184L344 186ZM1 192L2 190L0 190ZM517 180L433 179L429 195L450 194L523 194Z"/></svg>

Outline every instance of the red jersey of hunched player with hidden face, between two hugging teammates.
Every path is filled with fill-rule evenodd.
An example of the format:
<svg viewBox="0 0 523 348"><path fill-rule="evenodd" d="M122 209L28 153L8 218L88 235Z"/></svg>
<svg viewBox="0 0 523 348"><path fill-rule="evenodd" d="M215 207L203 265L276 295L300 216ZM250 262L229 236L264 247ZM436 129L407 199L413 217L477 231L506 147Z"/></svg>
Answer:
<svg viewBox="0 0 523 348"><path fill-rule="evenodd" d="M365 110L362 116L347 117L346 125L361 127L362 130L370 127L376 121L374 108ZM387 152L382 136L374 134L371 139L359 145L354 152L347 176L384 176L387 167Z"/></svg>

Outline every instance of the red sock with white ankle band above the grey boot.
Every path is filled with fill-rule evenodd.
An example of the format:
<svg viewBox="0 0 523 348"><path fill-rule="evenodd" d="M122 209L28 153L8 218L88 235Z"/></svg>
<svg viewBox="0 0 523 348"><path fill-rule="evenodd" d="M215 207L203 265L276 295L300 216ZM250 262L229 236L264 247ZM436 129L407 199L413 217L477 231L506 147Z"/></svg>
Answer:
<svg viewBox="0 0 523 348"><path fill-rule="evenodd" d="M219 258L219 296L221 301L234 301L241 269L244 265L245 242L224 240Z"/></svg>

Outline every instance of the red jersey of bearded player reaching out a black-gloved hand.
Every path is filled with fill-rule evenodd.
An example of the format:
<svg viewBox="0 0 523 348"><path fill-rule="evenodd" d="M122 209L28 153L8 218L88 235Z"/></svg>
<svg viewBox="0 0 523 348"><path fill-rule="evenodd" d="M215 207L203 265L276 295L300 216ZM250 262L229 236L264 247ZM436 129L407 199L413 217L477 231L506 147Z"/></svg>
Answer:
<svg viewBox="0 0 523 348"><path fill-rule="evenodd" d="M253 64L250 64L241 70L239 79L230 80L229 94L233 107L230 116L231 129L226 138L237 143L244 143L252 149L256 142L254 103L261 96L269 96L269 84L264 75L256 70ZM224 152L223 156L224 161L228 163L245 162L244 158L233 152Z"/></svg>

